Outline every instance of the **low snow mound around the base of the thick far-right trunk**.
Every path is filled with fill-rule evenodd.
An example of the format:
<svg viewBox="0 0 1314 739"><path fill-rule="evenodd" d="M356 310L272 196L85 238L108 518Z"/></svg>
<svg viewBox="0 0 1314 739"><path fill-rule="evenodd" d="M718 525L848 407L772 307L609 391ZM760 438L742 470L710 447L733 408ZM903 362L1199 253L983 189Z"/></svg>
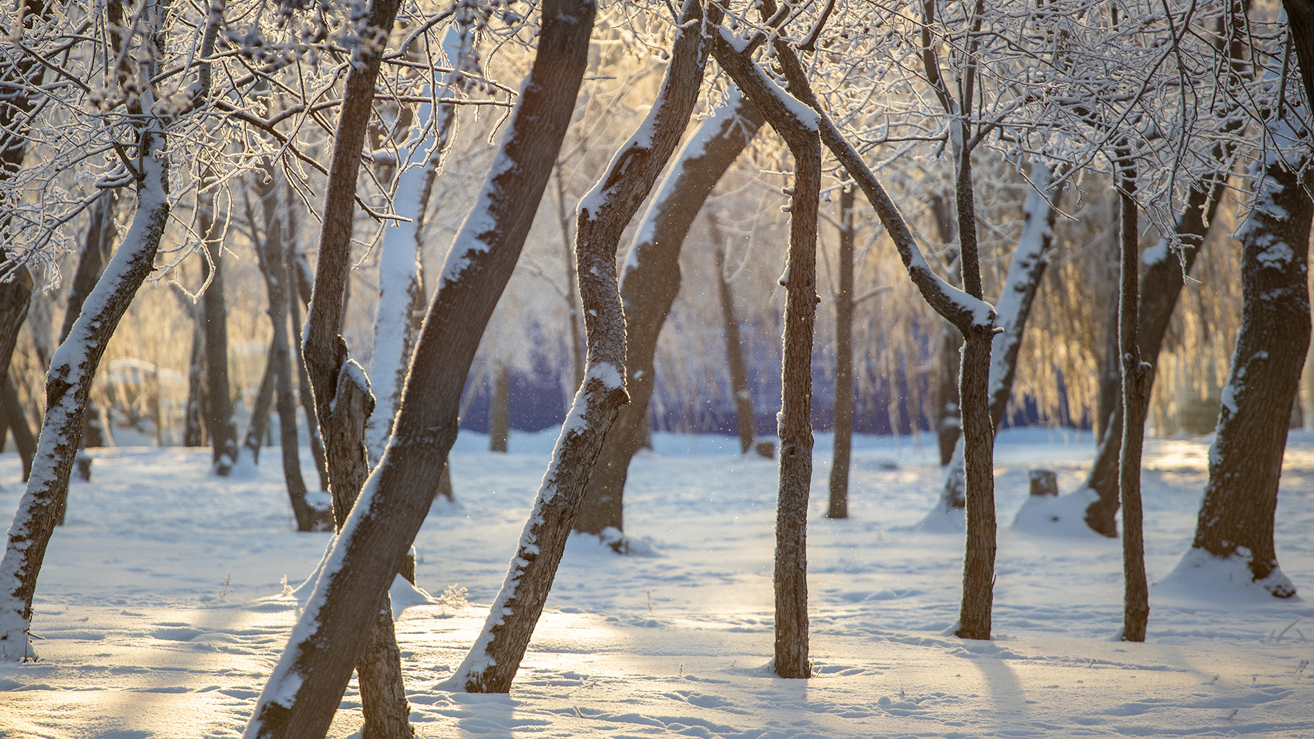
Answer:
<svg viewBox="0 0 1314 739"><path fill-rule="evenodd" d="M1281 570L1273 568L1268 578L1256 580L1250 560L1244 546L1238 546L1231 557L1189 549L1172 572L1154 584L1155 595L1210 604L1271 604L1275 597L1301 602L1296 585Z"/></svg>

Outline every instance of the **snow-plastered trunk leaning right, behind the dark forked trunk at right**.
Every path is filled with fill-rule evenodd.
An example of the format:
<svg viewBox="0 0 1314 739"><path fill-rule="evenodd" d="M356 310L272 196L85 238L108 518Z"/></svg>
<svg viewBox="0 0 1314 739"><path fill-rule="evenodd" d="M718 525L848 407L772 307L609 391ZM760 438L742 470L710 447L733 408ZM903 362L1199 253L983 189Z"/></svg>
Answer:
<svg viewBox="0 0 1314 739"><path fill-rule="evenodd" d="M1051 172L1045 164L1031 164L1031 184L1026 202L1022 206L1025 222L1017 238L1017 249L1004 280L999 305L995 306L995 324L1001 329L995 335L989 360L989 419L992 434L999 429L1008 411L1008 400L1013 394L1013 378L1017 375L1017 354L1022 349L1026 320L1031 315L1031 303L1041 287L1041 278L1049 266L1049 251L1054 243L1054 219L1058 211L1054 201L1059 192L1047 192ZM993 444L993 440L991 441ZM945 469L945 487L940 496L940 508L951 511L966 505L966 475L963 473L963 440L959 437L954 453Z"/></svg>

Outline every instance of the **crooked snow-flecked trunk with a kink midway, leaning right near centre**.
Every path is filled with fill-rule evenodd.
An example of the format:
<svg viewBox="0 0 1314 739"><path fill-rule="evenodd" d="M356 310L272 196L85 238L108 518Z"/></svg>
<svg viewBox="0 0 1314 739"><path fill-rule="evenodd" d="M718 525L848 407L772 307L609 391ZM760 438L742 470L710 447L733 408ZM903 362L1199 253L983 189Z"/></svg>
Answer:
<svg viewBox="0 0 1314 739"><path fill-rule="evenodd" d="M552 589L572 524L585 497L607 431L629 402L625 392L625 316L616 280L616 245L657 176L679 144L698 102L707 66L704 24L720 9L685 0L670 64L657 100L639 130L579 201L576 219L576 273L583 308L587 361L583 386L552 452L552 463L520 534L520 543L484 631L447 681L472 693L506 693L533 635Z"/></svg>

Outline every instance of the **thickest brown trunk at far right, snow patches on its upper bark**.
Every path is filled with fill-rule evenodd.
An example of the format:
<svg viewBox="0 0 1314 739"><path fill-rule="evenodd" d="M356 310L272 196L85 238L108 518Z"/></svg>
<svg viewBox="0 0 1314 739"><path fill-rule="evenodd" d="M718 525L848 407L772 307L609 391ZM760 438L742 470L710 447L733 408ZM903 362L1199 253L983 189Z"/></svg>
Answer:
<svg viewBox="0 0 1314 739"><path fill-rule="evenodd" d="M1255 198L1236 234L1242 320L1209 450L1209 483L1192 550L1179 568L1235 559L1273 596L1292 597L1296 587L1277 566L1273 517L1288 419L1310 343L1307 259L1314 202L1306 188L1314 165L1302 151L1307 131L1279 121L1269 123L1269 135L1275 143L1263 165L1251 168Z"/></svg>

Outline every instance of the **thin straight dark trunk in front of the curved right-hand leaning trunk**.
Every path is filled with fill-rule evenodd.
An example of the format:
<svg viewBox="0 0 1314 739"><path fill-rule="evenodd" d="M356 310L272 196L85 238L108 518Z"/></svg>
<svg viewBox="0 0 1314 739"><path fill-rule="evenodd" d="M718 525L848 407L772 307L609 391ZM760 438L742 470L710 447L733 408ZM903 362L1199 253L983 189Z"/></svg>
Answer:
<svg viewBox="0 0 1314 739"><path fill-rule="evenodd" d="M1141 448L1144 442L1146 408L1150 406L1150 365L1141 361L1137 337L1141 297L1141 248L1135 163L1121 151L1118 202L1121 210L1122 274L1118 287L1118 348L1122 354L1122 453L1118 455L1118 492L1122 497L1122 575L1125 584L1122 639L1146 641L1150 621L1150 585L1146 583L1144 533L1141 509ZM1306 311L1307 312L1307 311ZM1297 377L1300 373L1297 373Z"/></svg>

